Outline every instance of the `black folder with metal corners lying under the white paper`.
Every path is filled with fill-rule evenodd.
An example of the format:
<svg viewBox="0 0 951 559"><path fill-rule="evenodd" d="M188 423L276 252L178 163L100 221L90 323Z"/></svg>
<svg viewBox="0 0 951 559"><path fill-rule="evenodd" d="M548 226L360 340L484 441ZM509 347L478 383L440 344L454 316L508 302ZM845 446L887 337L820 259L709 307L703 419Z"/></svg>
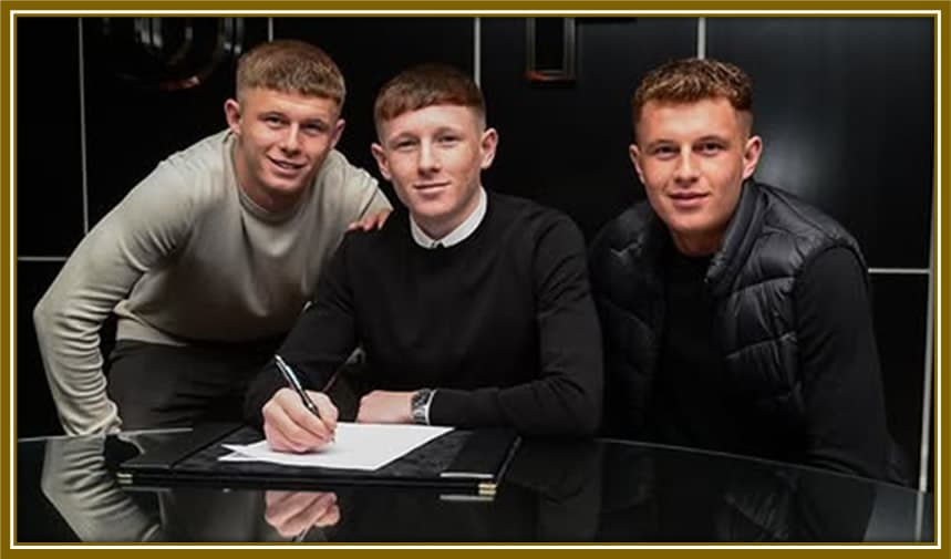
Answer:
<svg viewBox="0 0 951 559"><path fill-rule="evenodd" d="M325 490L380 485L493 497L519 443L511 429L454 429L375 470L218 460L230 454L221 445L248 444L260 438L259 431L238 424L203 425L124 462L117 479L133 487L203 485Z"/></svg>

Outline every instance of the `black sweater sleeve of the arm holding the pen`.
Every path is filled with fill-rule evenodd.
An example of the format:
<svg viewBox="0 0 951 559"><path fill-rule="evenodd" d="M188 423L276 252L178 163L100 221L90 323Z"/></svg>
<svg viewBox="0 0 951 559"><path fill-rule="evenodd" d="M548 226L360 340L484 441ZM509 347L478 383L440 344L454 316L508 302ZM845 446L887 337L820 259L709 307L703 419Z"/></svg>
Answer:
<svg viewBox="0 0 951 559"><path fill-rule="evenodd" d="M320 277L317 297L285 339L278 354L300 376L307 390L323 390L356 348L353 297L348 271L348 238ZM271 359L245 395L245 421L261 426L261 407L287 386Z"/></svg>

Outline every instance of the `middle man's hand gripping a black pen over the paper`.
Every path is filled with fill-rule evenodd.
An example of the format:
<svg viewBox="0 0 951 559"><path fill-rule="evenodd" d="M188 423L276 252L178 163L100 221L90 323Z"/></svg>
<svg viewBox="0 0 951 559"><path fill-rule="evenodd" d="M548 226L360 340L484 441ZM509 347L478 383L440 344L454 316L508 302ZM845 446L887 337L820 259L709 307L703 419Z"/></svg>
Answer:
<svg viewBox="0 0 951 559"><path fill-rule="evenodd" d="M270 447L304 453L331 443L337 428L337 406L325 394L306 391L300 376L280 355L275 355L275 362L289 387L277 391L261 408Z"/></svg>

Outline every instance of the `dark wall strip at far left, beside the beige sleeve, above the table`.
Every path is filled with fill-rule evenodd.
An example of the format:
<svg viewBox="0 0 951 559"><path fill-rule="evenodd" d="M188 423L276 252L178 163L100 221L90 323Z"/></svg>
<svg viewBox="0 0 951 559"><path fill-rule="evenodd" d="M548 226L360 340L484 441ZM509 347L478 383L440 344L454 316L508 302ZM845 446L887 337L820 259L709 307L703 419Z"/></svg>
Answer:
<svg viewBox="0 0 951 559"><path fill-rule="evenodd" d="M61 262L17 263L17 436L62 433L43 372L33 307L60 272Z"/></svg>

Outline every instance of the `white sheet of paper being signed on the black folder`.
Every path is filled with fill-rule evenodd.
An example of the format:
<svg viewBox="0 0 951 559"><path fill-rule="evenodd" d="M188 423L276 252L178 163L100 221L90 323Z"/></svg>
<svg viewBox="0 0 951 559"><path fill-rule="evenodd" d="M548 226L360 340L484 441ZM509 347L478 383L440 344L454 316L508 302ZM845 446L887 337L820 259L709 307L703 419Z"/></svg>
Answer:
<svg viewBox="0 0 951 559"><path fill-rule="evenodd" d="M249 445L223 445L234 453L218 459L271 462L289 466L322 468L376 469L452 429L453 427L430 425L338 423L337 439L312 453L279 453L271 451L267 441L260 441Z"/></svg>

